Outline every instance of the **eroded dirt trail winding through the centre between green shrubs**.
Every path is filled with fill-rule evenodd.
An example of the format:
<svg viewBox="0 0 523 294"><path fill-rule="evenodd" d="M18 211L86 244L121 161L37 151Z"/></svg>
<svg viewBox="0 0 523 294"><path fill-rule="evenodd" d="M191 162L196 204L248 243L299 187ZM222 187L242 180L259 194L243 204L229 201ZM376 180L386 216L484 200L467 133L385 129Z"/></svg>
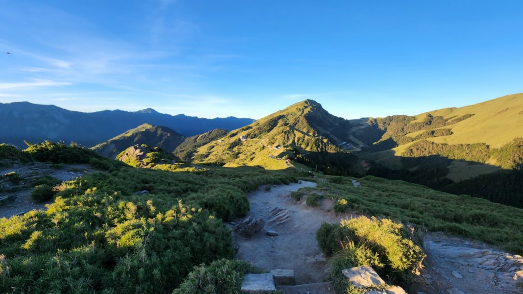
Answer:
<svg viewBox="0 0 523 294"><path fill-rule="evenodd" d="M263 219L265 227L251 239L236 236L240 246L236 258L266 270L294 269L297 285L327 280L329 266L316 242L316 231L322 223L338 223L347 215L336 215L328 209L330 199L325 199L323 207L311 208L305 205L305 197L300 201L290 198L292 191L315 186L312 182L300 182L268 191L261 187L249 193L251 211L247 217ZM278 235L269 236L268 231Z"/></svg>

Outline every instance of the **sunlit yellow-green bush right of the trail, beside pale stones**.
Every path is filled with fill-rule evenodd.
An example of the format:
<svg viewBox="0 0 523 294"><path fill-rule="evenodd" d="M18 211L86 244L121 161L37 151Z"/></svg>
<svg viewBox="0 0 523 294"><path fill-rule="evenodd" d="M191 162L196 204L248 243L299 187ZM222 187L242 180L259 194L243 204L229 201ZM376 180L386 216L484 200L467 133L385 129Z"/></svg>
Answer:
<svg viewBox="0 0 523 294"><path fill-rule="evenodd" d="M389 219L359 217L342 220L341 225L322 224L316 233L318 244L331 258L331 272L338 293L350 285L342 269L372 266L389 279L406 283L419 274L425 254L408 237L401 223Z"/></svg>

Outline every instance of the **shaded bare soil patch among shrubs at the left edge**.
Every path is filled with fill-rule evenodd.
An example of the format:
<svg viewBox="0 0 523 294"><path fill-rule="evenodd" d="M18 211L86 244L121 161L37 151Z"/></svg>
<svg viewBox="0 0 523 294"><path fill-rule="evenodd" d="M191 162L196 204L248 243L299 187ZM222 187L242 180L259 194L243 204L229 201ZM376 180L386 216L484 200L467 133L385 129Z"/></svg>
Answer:
<svg viewBox="0 0 523 294"><path fill-rule="evenodd" d="M52 199L46 202L35 202L31 198L33 188L30 183L35 179L50 175L62 181L67 181L93 171L95 169L85 164L67 164L59 169L46 163L16 164L1 168L0 175L16 172L22 179L16 187L9 187L6 191L0 192L0 197L10 197L9 200L0 203L0 218L10 218L33 209L46 209L46 205L51 203Z"/></svg>

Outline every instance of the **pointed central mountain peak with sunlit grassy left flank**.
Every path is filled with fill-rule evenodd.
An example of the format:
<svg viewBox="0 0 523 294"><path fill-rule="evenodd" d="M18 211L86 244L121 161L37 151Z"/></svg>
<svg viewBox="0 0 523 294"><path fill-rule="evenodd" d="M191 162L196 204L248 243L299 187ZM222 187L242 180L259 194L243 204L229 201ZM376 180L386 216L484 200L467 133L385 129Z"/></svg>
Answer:
<svg viewBox="0 0 523 294"><path fill-rule="evenodd" d="M198 148L192 160L226 166L263 166L282 169L286 159L312 166L333 167L334 161L354 167L357 159L343 150L350 123L325 111L319 103L304 100L251 125Z"/></svg>

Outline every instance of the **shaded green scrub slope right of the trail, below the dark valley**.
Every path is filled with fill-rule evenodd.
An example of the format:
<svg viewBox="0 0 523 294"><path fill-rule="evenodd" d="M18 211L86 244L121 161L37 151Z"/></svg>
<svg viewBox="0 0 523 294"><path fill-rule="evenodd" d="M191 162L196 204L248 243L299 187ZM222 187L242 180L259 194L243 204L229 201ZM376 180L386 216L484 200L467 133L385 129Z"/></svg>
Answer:
<svg viewBox="0 0 523 294"><path fill-rule="evenodd" d="M329 179L331 177L325 176ZM371 216L425 226L493 244L514 254L523 253L523 210L467 195L452 195L425 186L373 176L332 177L313 190L333 201L346 200L345 209ZM340 207L341 208L341 207ZM340 209L338 208L338 210Z"/></svg>

